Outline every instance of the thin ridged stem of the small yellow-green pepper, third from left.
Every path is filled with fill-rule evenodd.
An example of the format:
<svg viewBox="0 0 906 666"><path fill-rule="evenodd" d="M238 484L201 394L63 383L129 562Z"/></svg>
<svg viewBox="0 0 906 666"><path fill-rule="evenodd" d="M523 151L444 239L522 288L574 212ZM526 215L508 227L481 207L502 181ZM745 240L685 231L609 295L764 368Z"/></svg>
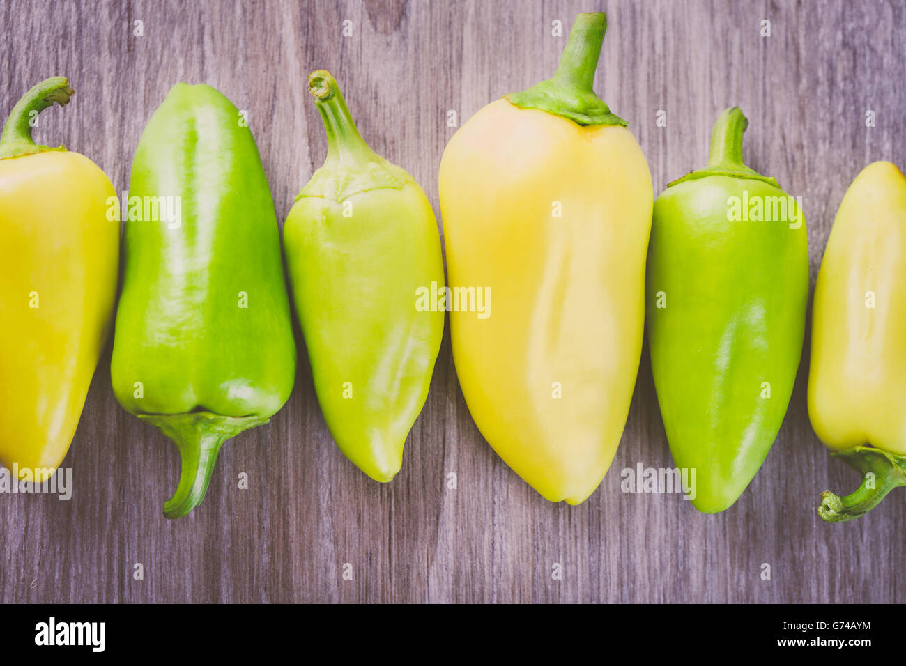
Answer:
<svg viewBox="0 0 906 666"><path fill-rule="evenodd" d="M308 75L308 92L324 121L327 132L327 160L340 162L376 161L380 158L361 138L359 128L352 121L352 114L343 99L340 86L331 72L318 70Z"/></svg>

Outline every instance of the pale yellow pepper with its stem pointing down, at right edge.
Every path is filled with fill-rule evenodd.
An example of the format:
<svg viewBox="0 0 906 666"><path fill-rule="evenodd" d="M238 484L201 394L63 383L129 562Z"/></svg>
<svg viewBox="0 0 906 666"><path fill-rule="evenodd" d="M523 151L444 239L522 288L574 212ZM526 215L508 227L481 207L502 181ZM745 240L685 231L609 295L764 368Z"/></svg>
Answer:
<svg viewBox="0 0 906 666"><path fill-rule="evenodd" d="M814 287L808 412L818 438L863 474L821 495L829 522L868 513L906 486L906 179L890 162L846 191Z"/></svg>

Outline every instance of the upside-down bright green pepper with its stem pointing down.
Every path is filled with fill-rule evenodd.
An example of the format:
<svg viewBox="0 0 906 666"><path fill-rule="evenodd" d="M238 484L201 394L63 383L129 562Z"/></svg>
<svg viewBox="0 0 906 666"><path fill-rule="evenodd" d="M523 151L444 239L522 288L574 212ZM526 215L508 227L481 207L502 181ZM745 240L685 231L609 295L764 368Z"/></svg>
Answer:
<svg viewBox="0 0 906 666"><path fill-rule="evenodd" d="M180 202L178 219L147 208L160 197ZM292 319L265 171L224 95L173 86L135 152L135 201L138 215L122 211L111 377L120 404L178 446L179 485L164 505L177 518L204 498L223 442L289 398Z"/></svg>

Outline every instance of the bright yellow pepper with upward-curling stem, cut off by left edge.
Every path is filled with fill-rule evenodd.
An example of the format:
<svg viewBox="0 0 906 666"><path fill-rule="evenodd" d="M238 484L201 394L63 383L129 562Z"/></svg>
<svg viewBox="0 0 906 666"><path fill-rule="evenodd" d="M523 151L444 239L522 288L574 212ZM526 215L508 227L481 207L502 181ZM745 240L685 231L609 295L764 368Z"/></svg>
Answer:
<svg viewBox="0 0 906 666"><path fill-rule="evenodd" d="M62 76L15 105L0 136L0 464L43 483L72 443L111 329L120 221L91 159L32 140Z"/></svg>

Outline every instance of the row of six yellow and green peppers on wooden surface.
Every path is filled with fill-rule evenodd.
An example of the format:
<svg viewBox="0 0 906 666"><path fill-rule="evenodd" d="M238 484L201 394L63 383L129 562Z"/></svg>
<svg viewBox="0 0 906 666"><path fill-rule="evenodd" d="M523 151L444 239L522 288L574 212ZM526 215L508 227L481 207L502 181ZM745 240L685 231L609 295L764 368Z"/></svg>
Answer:
<svg viewBox="0 0 906 666"><path fill-rule="evenodd" d="M805 333L802 211L743 163L738 108L719 117L708 166L652 201L639 144L593 92L605 29L604 14L580 14L554 77L478 111L444 151L449 282L493 294L486 317L448 302L422 189L369 148L331 74L310 75L328 152L286 219L285 260L324 419L369 477L400 470L447 310L478 429L549 500L583 502L610 467L646 316L670 450L697 470L693 506L727 509L764 462ZM62 77L39 83L0 137L0 463L43 470L38 483L61 464L115 309L113 391L178 446L164 512L186 516L224 441L293 389L274 203L236 106L178 83L135 153L139 210L111 207L90 159L32 140L37 113L72 92ZM177 217L161 215L169 198ZM904 284L906 179L876 162L843 198L814 294L809 413L864 474L853 495L824 493L825 520L906 485ZM417 307L429 287L438 301Z"/></svg>

